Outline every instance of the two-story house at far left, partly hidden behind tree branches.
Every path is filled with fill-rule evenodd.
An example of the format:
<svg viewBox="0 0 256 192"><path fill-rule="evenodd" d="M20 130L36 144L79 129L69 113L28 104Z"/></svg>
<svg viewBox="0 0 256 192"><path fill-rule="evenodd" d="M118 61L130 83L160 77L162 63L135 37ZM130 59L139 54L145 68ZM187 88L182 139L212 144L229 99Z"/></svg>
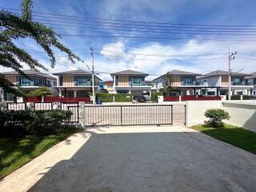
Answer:
<svg viewBox="0 0 256 192"><path fill-rule="evenodd" d="M37 90L38 87L46 86L54 93L54 86L57 85L57 79L49 74L44 74L38 70L23 70L27 77L18 74L17 71L3 72L2 76L14 86L19 88L26 94L31 90ZM14 95L1 91L2 101L14 101Z"/></svg>

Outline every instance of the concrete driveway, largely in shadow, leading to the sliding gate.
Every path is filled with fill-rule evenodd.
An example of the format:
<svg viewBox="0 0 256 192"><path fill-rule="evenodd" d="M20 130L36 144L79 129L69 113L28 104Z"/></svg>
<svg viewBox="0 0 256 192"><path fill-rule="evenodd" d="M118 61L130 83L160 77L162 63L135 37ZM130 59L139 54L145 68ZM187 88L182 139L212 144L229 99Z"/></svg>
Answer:
<svg viewBox="0 0 256 192"><path fill-rule="evenodd" d="M256 155L182 126L75 134L0 182L0 191L256 191Z"/></svg>

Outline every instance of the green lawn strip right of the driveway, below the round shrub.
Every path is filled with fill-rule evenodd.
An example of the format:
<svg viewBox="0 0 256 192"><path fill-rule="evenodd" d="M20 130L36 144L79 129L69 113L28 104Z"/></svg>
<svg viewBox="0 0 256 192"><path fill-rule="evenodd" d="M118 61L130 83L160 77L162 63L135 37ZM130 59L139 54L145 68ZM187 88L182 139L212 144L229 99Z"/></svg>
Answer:
<svg viewBox="0 0 256 192"><path fill-rule="evenodd" d="M223 142L228 142L231 145L237 146L243 150L247 150L252 154L256 154L256 133L253 131L226 124L223 128L217 129L206 125L192 126L191 128L194 130L199 130L200 132L208 134L211 137L217 138Z"/></svg>

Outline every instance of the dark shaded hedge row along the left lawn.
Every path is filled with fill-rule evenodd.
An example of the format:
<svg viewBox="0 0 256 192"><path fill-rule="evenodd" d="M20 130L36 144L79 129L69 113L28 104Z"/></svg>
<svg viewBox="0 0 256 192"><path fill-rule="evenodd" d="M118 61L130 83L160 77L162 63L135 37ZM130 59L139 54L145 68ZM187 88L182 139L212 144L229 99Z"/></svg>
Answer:
<svg viewBox="0 0 256 192"><path fill-rule="evenodd" d="M0 136L54 134L71 115L70 110L0 111Z"/></svg>

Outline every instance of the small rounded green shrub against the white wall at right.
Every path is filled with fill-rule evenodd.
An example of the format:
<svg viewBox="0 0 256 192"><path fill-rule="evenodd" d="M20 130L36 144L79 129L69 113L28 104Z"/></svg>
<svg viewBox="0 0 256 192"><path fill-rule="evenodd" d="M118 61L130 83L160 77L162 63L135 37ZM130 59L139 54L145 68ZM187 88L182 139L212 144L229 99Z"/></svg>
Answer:
<svg viewBox="0 0 256 192"><path fill-rule="evenodd" d="M206 118L210 118L208 121L206 121L206 124L213 127L222 127L222 120L230 119L230 114L221 109L206 110L205 116Z"/></svg>

